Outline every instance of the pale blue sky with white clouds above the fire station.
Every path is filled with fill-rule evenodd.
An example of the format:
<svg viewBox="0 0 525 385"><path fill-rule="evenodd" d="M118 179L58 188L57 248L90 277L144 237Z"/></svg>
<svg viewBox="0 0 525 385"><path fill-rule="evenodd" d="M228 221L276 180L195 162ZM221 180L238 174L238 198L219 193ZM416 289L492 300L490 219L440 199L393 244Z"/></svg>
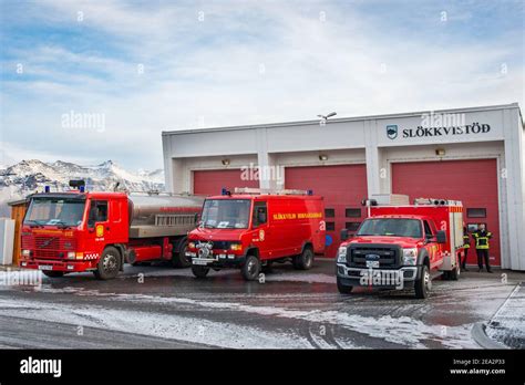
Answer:
<svg viewBox="0 0 525 385"><path fill-rule="evenodd" d="M518 1L0 0L0 164L162 167L161 132L524 96Z"/></svg>

